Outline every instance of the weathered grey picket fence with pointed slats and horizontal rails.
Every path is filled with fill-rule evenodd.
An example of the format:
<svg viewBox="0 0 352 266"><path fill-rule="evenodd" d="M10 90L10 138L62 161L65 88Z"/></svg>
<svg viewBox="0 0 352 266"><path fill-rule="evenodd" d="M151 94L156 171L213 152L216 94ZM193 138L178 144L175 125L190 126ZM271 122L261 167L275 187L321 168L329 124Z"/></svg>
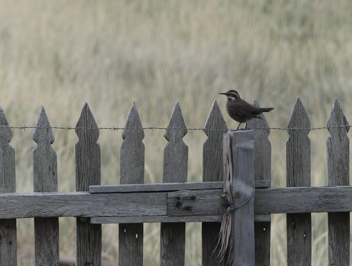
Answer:
<svg viewBox="0 0 352 266"><path fill-rule="evenodd" d="M254 105L259 106L256 101ZM236 167L245 168L241 173L256 180L256 194L239 209L241 212L231 214L235 236L251 238L242 239L239 246L236 241L241 238L235 237L233 265L270 265L271 213L287 213L288 265L311 265L312 212L328 212L328 265L349 265L349 127L339 102L335 99L327 122L328 187L310 187L310 122L299 98L288 124L287 187L270 187L270 129L264 115L261 117L263 120L248 123L254 130L226 133L226 123L214 101L204 128L203 182L187 182L188 147L182 141L187 129L176 103L164 134L168 144L163 155L163 183L143 184L144 131L133 103L122 132L120 184L101 186L99 128L85 104L75 128L79 139L75 147L76 192L57 192L57 160L51 148L54 134L42 106L33 131L37 143L33 150L34 192L16 193L14 149L9 145L12 131L0 107L0 266L17 265L16 219L31 217L36 265L58 265L58 217L64 216L77 218L78 266L101 265L102 223L119 223L119 265L143 265L144 222L161 222L160 264L177 266L184 265L186 222L202 222L202 265L218 265L211 253L224 212L220 195L224 173L229 173L224 158L236 150L242 154L232 159L234 179L240 175L235 173ZM249 152L232 141L241 136ZM229 141L225 145L224 139ZM244 201L246 195L237 195L236 189L235 202ZM245 212L244 220L238 214ZM246 221L242 227L238 226L241 221Z"/></svg>

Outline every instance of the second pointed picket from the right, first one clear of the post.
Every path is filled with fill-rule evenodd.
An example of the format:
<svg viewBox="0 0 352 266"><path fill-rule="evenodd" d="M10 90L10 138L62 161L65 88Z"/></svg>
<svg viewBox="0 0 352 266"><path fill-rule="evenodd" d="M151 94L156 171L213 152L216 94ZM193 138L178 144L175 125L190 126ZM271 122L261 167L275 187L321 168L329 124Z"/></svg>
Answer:
<svg viewBox="0 0 352 266"><path fill-rule="evenodd" d="M310 186L310 122L306 110L297 97L288 128L286 141L286 185L287 187ZM287 264L288 266L311 265L312 263L312 219L310 213L287 214Z"/></svg>

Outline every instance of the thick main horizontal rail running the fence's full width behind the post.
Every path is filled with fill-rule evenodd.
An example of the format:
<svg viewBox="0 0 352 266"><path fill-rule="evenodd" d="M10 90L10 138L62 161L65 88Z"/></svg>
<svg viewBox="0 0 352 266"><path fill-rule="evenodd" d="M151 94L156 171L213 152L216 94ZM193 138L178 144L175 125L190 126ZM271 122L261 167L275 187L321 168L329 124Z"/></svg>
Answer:
<svg viewBox="0 0 352 266"><path fill-rule="evenodd" d="M118 216L119 222L217 221L221 193L220 188L130 193L0 193L0 219ZM181 206L176 207L177 201ZM351 211L351 186L257 188L254 196L254 214ZM154 217L131 219L135 216Z"/></svg>

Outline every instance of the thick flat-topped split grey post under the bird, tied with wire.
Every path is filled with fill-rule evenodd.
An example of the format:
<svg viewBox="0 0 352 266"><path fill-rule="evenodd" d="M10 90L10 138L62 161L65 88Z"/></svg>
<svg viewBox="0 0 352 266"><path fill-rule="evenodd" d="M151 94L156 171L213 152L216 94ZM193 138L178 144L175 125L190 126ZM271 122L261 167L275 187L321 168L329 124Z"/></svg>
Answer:
<svg viewBox="0 0 352 266"><path fill-rule="evenodd" d="M228 169L227 169L228 168ZM228 132L224 138L224 173L229 179L234 210L230 221L230 248L225 255L225 265L254 266L254 131ZM224 184L225 186L225 184ZM226 190L225 190L226 191ZM223 228L222 228L223 229Z"/></svg>

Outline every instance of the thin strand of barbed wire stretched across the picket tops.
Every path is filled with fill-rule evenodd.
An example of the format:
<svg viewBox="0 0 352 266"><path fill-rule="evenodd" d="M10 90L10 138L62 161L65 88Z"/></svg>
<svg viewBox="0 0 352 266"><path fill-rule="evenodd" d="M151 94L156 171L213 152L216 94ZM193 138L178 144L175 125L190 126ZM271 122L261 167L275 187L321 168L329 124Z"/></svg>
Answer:
<svg viewBox="0 0 352 266"><path fill-rule="evenodd" d="M247 129L238 129L238 130L252 130L252 129L278 129L278 130L318 130L318 129L330 129L330 128L350 128L350 125L337 125L337 126L323 126L320 128L247 128ZM124 129L150 129L150 130L154 130L154 129L170 129L170 130L202 130L202 131L235 131L236 129L210 129L210 128L163 128L163 127L157 127L157 126L149 126L149 127L122 127L120 128L119 126L117 127L105 127L105 128L86 128L86 127L71 127L71 126L7 126L7 125L1 125L0 128L10 128L10 129L35 129L35 128L45 128L45 129L65 129L65 130L72 130L72 129L108 129L108 130L124 130Z"/></svg>

